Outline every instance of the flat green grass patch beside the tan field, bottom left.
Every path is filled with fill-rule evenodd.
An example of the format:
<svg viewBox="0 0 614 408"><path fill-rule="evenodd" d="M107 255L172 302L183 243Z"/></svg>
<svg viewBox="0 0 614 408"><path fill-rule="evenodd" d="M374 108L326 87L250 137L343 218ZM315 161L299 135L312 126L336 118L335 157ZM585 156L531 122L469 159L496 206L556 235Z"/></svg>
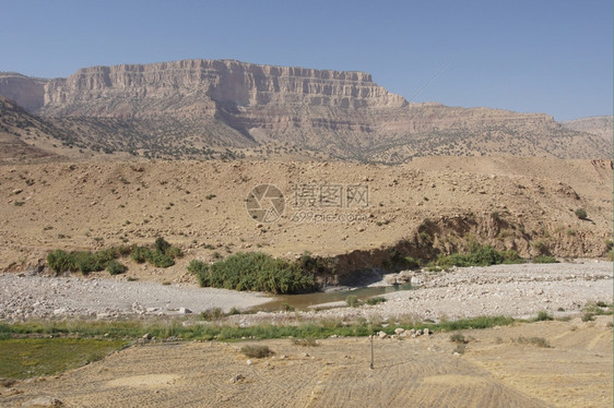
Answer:
<svg viewBox="0 0 614 408"><path fill-rule="evenodd" d="M122 340L75 338L0 340L0 377L56 374L99 360L126 345Z"/></svg>

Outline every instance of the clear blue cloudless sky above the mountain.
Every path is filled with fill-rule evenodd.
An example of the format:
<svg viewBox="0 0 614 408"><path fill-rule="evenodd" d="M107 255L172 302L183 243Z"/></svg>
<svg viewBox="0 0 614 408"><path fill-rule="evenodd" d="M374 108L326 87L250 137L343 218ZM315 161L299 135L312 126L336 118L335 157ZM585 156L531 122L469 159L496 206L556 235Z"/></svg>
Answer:
<svg viewBox="0 0 614 408"><path fill-rule="evenodd" d="M0 71L227 58L568 120L612 115L612 0L0 0Z"/></svg>

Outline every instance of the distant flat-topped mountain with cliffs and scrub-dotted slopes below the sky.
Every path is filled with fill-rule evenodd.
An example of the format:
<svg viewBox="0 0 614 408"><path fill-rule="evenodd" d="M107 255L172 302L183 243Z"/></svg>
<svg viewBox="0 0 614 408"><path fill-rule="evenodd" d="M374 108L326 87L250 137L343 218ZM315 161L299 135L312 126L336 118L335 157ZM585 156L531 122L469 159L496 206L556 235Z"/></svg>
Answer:
<svg viewBox="0 0 614 408"><path fill-rule="evenodd" d="M368 73L185 60L0 74L0 95L83 154L236 158L326 154L399 164L433 155L607 158L611 141L543 113L410 104Z"/></svg>

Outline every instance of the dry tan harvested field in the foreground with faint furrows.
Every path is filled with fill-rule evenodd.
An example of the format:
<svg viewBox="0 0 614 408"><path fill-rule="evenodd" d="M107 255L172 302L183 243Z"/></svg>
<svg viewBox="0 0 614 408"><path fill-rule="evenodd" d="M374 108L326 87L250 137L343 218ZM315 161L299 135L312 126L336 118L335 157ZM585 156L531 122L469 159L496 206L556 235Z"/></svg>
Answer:
<svg viewBox="0 0 614 408"><path fill-rule="evenodd" d="M611 407L611 316L375 340L331 338L319 347L268 340L253 359L243 344L133 346L56 377L0 388L0 405L40 396L67 407ZM519 344L541 337L550 348ZM512 339L516 339L513 341ZM245 379L233 381L236 375Z"/></svg>

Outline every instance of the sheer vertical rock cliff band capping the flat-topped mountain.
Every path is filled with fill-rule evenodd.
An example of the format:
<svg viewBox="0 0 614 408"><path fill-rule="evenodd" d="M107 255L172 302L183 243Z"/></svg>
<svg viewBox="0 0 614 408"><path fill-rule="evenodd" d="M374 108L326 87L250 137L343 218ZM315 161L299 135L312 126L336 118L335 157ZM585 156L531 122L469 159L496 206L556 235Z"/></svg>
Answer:
<svg viewBox="0 0 614 408"><path fill-rule="evenodd" d="M299 104L357 109L404 103L363 72L187 60L79 70L68 79L46 84L40 112L138 117L197 113L216 104L236 108Z"/></svg>

